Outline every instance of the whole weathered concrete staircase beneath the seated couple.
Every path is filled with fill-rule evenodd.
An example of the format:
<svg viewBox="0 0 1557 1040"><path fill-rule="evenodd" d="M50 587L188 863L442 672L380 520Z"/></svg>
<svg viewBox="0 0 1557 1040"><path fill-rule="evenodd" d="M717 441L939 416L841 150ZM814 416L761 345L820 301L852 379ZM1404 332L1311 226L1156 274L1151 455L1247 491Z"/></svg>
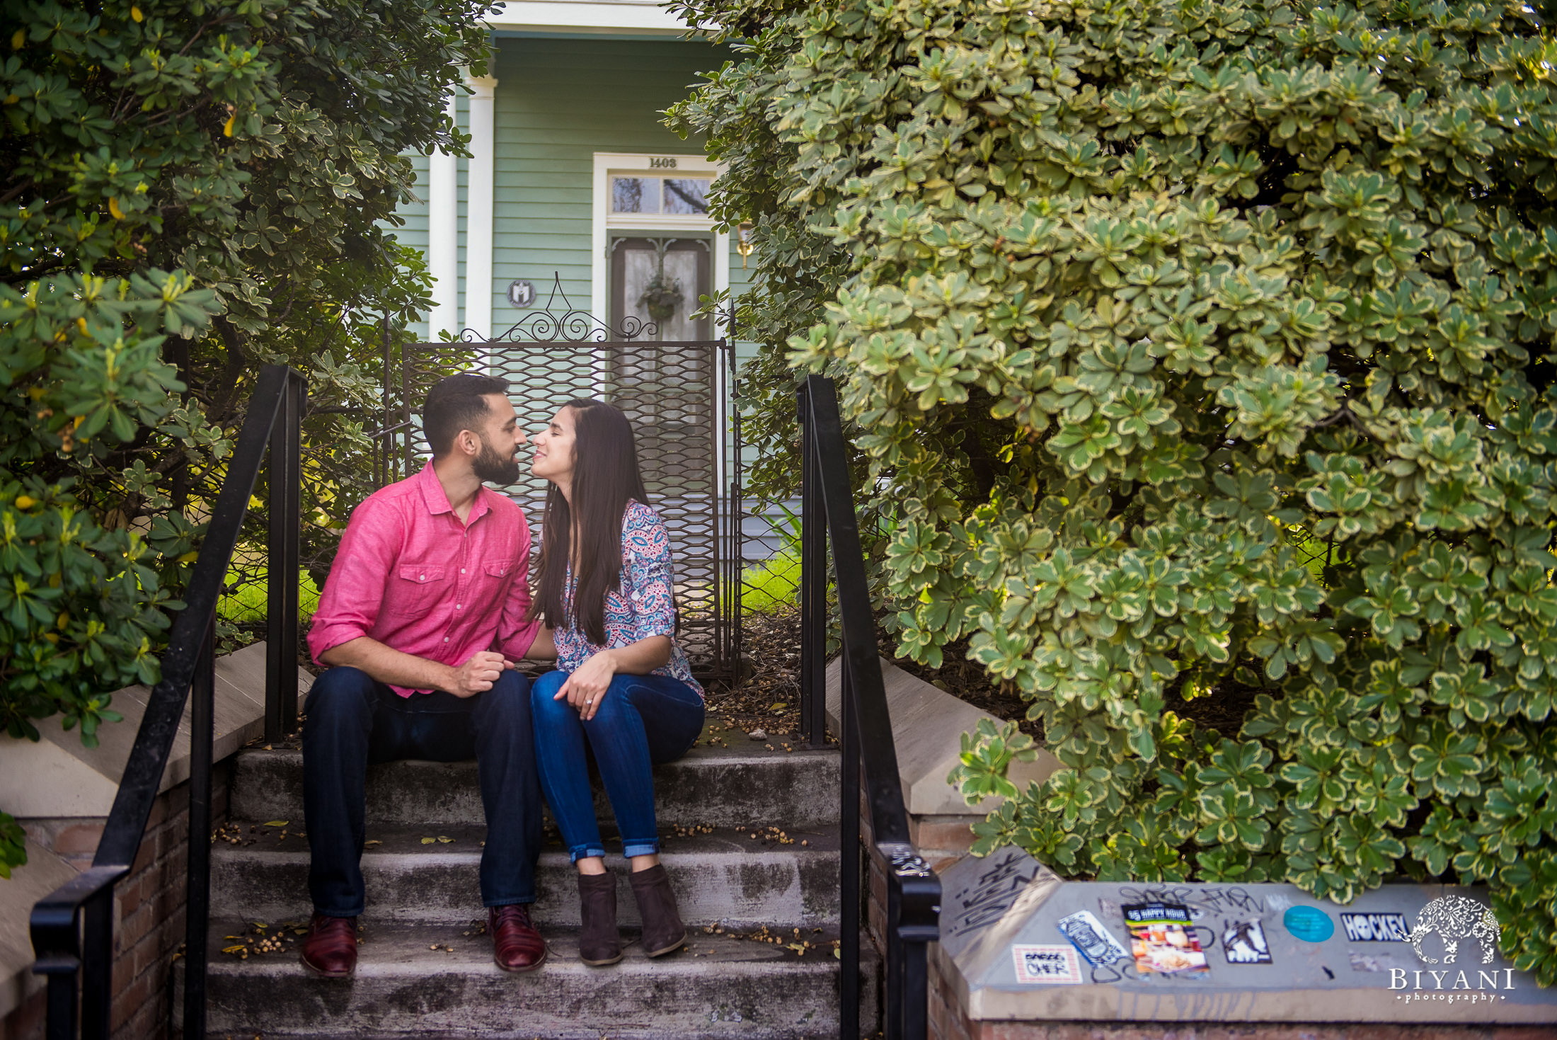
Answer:
<svg viewBox="0 0 1557 1040"><path fill-rule="evenodd" d="M492 964L484 934L475 763L375 766L367 912L349 981L297 962L296 928L310 912L301 754L241 752L230 822L212 850L210 1035L836 1037L838 754L741 743L699 746L655 772L688 948L651 962L632 942L618 965L579 964L578 895L557 839L542 853L534 906L551 956L522 976ZM626 867L613 869L632 937ZM873 993L870 979L861 990Z"/></svg>

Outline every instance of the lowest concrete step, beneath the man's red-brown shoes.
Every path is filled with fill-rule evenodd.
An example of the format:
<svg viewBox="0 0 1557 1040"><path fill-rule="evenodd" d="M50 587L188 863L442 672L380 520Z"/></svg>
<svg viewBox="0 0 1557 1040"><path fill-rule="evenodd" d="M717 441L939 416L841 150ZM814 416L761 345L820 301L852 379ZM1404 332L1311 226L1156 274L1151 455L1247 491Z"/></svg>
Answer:
<svg viewBox="0 0 1557 1040"><path fill-rule="evenodd" d="M838 1035L838 961L830 942L805 954L696 933L649 961L637 942L621 964L590 968L571 934L548 934L545 965L509 975L484 934L458 926L366 926L357 975L319 979L296 940L244 961L220 950L240 923L212 929L210 1037L547 1037L551 1040L732 1040ZM543 933L547 929L542 929ZM431 950L430 947L436 947ZM179 961L182 964L182 961ZM880 973L864 965L863 993ZM867 1010L873 1001L864 1001ZM867 1035L875 1023L863 1023Z"/></svg>

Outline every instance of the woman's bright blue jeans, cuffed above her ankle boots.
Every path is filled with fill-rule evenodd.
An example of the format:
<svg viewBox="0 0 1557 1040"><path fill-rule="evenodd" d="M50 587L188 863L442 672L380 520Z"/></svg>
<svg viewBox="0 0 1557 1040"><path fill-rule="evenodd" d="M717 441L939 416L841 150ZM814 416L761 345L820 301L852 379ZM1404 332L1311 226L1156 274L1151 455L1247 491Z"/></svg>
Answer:
<svg viewBox="0 0 1557 1040"><path fill-rule="evenodd" d="M565 671L548 671L537 679L529 688L529 713L536 719L540 786L568 855L575 863L606 855L589 789L585 738L617 814L621 855L659 852L649 768L676 761L691 749L702 732L702 697L670 676L615 676L595 718L582 722L578 708L553 699L567 679Z"/></svg>

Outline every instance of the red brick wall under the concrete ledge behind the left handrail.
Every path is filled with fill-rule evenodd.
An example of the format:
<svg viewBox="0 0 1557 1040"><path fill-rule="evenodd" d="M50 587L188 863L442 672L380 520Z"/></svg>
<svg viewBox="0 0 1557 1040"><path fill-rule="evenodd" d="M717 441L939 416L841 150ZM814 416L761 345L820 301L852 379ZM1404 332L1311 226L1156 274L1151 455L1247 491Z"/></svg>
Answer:
<svg viewBox="0 0 1557 1040"><path fill-rule="evenodd" d="M212 775L212 824L227 816L227 763ZM20 820L28 838L76 867L92 863L103 819ZM209 841L210 838L206 836ZM184 892L188 861L188 783L165 791L151 806L140 855L114 887L115 1040L162 1040L168 1032L168 976L184 943ZM0 1040L40 1040L44 992L0 1021Z"/></svg>

